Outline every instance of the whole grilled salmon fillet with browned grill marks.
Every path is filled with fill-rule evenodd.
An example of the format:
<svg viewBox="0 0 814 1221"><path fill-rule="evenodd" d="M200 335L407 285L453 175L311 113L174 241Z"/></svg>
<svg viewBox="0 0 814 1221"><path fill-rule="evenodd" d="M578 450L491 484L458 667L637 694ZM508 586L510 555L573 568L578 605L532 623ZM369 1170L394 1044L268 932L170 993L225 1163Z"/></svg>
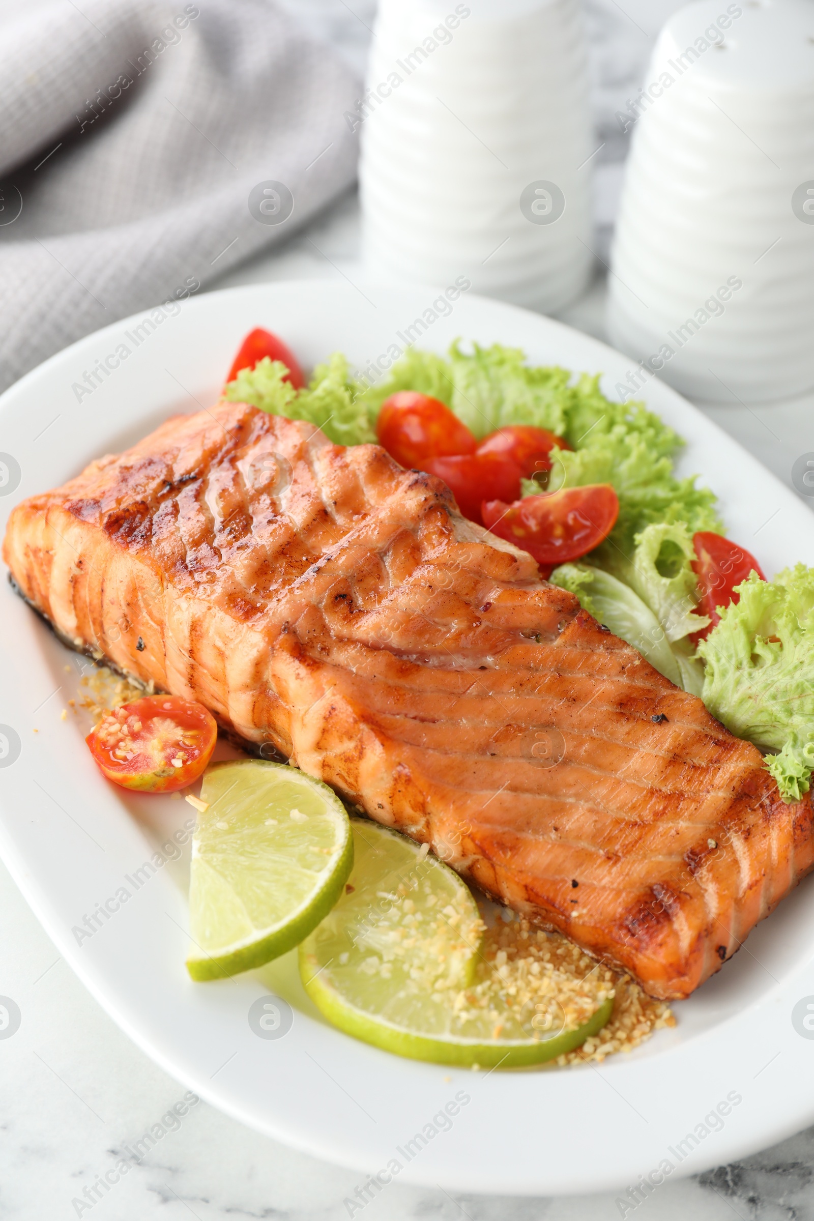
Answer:
<svg viewBox="0 0 814 1221"><path fill-rule="evenodd" d="M244 403L11 514L60 635L688 996L812 867L807 797L380 446Z"/></svg>

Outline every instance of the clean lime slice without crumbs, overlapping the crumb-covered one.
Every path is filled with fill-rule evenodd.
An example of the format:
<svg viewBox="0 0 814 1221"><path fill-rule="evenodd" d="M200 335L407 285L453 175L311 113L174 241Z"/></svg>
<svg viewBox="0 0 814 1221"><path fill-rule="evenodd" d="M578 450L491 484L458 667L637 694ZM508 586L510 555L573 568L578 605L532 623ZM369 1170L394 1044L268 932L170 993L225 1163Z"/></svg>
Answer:
<svg viewBox="0 0 814 1221"><path fill-rule="evenodd" d="M286 763L216 763L204 777L193 838L193 979L260 967L331 911L353 866L345 808Z"/></svg>

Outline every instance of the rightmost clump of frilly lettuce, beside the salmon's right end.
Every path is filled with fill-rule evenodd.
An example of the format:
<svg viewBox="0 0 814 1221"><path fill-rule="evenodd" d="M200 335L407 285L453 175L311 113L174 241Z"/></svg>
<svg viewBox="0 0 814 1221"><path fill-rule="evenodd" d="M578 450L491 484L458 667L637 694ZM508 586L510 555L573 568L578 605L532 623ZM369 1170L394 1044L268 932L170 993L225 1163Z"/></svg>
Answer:
<svg viewBox="0 0 814 1221"><path fill-rule="evenodd" d="M814 569L752 573L737 592L698 646L702 698L738 737L779 752L766 767L783 801L799 801L814 768Z"/></svg>

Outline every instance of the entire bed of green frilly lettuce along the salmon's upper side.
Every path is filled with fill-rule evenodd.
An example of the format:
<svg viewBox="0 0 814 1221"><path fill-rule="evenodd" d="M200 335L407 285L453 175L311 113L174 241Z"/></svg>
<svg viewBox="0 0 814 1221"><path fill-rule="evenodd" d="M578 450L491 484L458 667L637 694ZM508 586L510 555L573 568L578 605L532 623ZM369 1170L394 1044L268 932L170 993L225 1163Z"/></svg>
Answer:
<svg viewBox="0 0 814 1221"><path fill-rule="evenodd" d="M548 490L610 484L620 503L610 537L589 564L565 564L552 580L638 648L660 673L701 695L733 734L776 751L766 767L786 801L808 791L814 769L814 570L802 564L774 581L753 573L741 600L696 653L691 634L709 621L694 610L692 535L720 531L715 496L694 479L674 475L682 442L642 403L614 403L599 379L532 368L519 348L454 343L448 357L410 348L376 386L351 376L334 353L308 387L283 381L286 366L268 359L242 370L226 387L232 402L315 424L339 444L376 440L376 416L398 389L447 403L477 437L505 424L533 424L567 440L552 451ZM525 496L539 491L524 481ZM699 661L707 665L705 672Z"/></svg>

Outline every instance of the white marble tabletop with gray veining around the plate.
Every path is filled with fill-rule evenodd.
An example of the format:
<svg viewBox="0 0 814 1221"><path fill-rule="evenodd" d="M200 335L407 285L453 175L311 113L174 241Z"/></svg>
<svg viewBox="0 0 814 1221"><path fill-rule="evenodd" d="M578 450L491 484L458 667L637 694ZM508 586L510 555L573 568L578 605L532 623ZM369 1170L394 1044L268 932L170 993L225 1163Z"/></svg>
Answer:
<svg viewBox="0 0 814 1221"><path fill-rule="evenodd" d="M370 0L289 0L312 27L361 62ZM643 71L654 29L670 0L587 0L592 32L597 118L610 145L603 161L599 242L613 221L613 187L624 147L609 116ZM2 6L0 5L0 12ZM358 211L349 195L278 254L232 272L222 286L289 277L359 276ZM311 244L314 243L314 244ZM602 250L600 250L602 253ZM565 321L603 337L604 282L570 309ZM711 414L781 479L793 459L814 451L814 400L749 411L733 404ZM747 540L743 540L747 542ZM16 1034L0 1040L0 1217L60 1221L167 1221L249 1217L333 1221L349 1210L359 1176L294 1153L200 1103L109 1194L94 1201L99 1176L183 1096L85 991L43 933L0 867L0 994L20 1006ZM669 1106L669 1099L665 1099ZM499 1117L495 1117L499 1122ZM173 1125L167 1123L166 1127ZM589 1156L589 1150L586 1150ZM814 1129L742 1164L697 1179L670 1182L637 1210L648 1221L814 1221ZM93 1201L93 1203L92 1203ZM392 1184L365 1209L370 1221L610 1221L615 1195L510 1199L459 1195Z"/></svg>

